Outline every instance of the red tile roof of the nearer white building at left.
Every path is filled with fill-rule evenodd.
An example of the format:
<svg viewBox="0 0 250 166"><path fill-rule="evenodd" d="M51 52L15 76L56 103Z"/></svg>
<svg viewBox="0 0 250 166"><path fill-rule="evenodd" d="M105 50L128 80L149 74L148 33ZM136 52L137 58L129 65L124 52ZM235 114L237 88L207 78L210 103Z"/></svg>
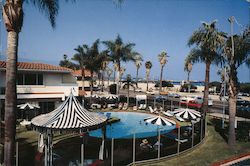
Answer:
<svg viewBox="0 0 250 166"><path fill-rule="evenodd" d="M61 71L71 72L72 70L66 67L55 66L36 62L17 62L18 70L35 70L35 71ZM0 69L6 68L6 61L0 61Z"/></svg>

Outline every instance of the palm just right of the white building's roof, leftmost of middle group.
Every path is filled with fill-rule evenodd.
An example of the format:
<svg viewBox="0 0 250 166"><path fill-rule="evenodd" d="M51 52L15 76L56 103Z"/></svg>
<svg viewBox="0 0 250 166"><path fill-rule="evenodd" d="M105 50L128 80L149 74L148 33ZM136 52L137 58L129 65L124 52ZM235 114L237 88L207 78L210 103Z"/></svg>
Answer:
<svg viewBox="0 0 250 166"><path fill-rule="evenodd" d="M78 46L77 48L75 48L74 50L77 52L73 55L72 60L75 61L77 63L78 68L81 70L81 81L82 81L82 90L84 91L84 78L85 78L85 61L86 61L86 54L87 54L87 50L86 48L88 48L87 45L83 45L83 46Z"/></svg>

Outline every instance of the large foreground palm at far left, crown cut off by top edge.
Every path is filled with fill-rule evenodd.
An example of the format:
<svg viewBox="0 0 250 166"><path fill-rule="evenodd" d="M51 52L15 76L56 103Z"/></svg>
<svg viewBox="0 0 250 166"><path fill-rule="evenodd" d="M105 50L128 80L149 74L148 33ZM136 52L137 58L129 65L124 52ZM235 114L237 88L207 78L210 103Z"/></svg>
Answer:
<svg viewBox="0 0 250 166"><path fill-rule="evenodd" d="M5 90L5 139L4 139L4 165L14 165L14 149L16 135L16 77L18 60L19 32L23 26L24 0L6 0L3 6L3 19L7 30L7 61L6 61L6 90ZM43 12L55 27L58 14L59 1L30 0L33 5Z"/></svg>

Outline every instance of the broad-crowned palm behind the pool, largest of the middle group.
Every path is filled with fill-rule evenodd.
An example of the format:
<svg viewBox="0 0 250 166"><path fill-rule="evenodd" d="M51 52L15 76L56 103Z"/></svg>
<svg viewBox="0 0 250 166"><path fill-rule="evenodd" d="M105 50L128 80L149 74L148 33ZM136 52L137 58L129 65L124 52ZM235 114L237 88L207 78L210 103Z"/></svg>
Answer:
<svg viewBox="0 0 250 166"><path fill-rule="evenodd" d="M120 68L121 62L134 61L135 55L138 53L133 51L135 46L134 43L124 44L120 35L117 35L114 41L104 41L104 45L109 51L109 56L111 57L113 63L117 64L117 93L119 93L119 81L120 81Z"/></svg>

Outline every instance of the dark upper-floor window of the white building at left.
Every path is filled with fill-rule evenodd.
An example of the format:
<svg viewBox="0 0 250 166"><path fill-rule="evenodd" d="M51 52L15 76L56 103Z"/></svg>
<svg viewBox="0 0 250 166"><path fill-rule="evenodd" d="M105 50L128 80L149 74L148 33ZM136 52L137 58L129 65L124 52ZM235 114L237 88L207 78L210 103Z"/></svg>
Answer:
<svg viewBox="0 0 250 166"><path fill-rule="evenodd" d="M17 85L43 85L42 74L17 74Z"/></svg>

